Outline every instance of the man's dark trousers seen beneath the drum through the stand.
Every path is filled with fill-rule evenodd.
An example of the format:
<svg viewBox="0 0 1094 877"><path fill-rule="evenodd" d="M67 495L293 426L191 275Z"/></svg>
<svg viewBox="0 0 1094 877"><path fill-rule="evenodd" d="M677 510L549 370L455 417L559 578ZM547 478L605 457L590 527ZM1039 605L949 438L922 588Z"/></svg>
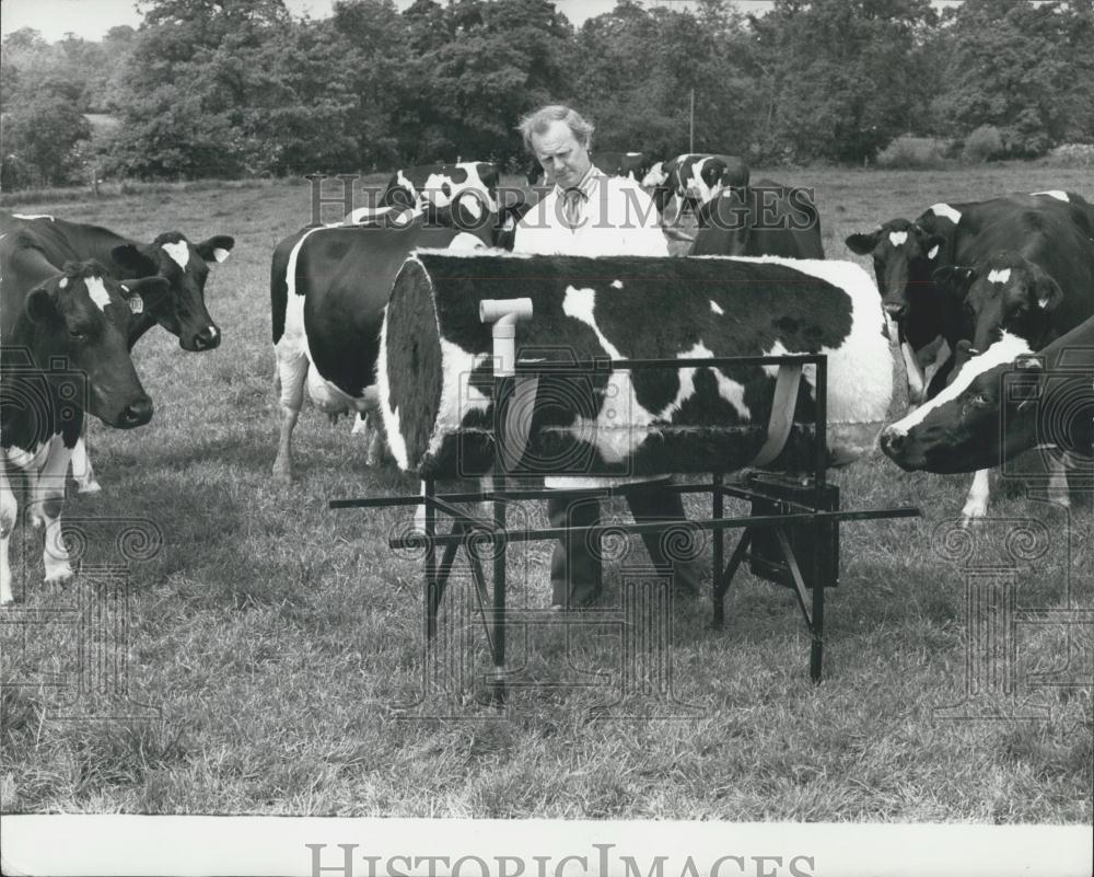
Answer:
<svg viewBox="0 0 1094 877"><path fill-rule="evenodd" d="M625 496L638 523L686 520L684 504L677 493L636 488L627 491ZM601 522L601 500L597 497L548 498L547 517L552 528L596 527ZM642 541L654 567L672 568L677 589L689 595L699 592L701 573L695 556L670 558L661 545L660 532L642 533ZM584 533L568 533L560 539L551 553L550 580L554 604L582 607L593 602L600 596L603 581L600 542Z"/></svg>

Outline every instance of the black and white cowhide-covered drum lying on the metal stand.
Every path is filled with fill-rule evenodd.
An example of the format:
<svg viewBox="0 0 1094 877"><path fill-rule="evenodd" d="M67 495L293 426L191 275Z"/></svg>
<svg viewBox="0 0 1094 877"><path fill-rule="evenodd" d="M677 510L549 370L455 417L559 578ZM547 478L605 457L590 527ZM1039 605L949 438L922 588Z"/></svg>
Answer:
<svg viewBox="0 0 1094 877"><path fill-rule="evenodd" d="M777 366L620 370L618 359L828 355L834 462L868 449L892 395L876 288L847 262L771 257L529 256L419 250L395 279L381 332L381 408L398 465L423 477L486 473L494 459L492 327L484 299L532 300L519 361L549 364L523 473L731 472L763 446ZM778 468L807 465L815 374L806 367Z"/></svg>

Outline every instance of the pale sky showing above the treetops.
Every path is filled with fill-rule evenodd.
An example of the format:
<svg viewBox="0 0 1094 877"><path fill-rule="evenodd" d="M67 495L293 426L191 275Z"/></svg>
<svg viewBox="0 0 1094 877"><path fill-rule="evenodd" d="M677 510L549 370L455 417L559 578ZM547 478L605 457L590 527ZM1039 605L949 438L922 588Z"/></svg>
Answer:
<svg viewBox="0 0 1094 877"><path fill-rule="evenodd" d="M412 0L396 0L405 9ZM690 5L688 0L647 0L643 5ZM334 0L286 0L294 15L309 13L313 19L330 14ZM770 5L770 0L737 0L737 8L754 11ZM555 7L573 24L610 12L615 0L555 0ZM133 0L0 0L0 33L9 34L21 27L34 27L50 43L71 31L84 39L101 39L110 27L141 22Z"/></svg>

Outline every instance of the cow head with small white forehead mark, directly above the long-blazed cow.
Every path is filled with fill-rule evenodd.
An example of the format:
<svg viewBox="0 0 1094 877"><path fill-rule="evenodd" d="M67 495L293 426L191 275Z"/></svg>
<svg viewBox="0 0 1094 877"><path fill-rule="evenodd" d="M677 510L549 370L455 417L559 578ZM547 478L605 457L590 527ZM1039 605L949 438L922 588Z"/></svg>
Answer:
<svg viewBox="0 0 1094 877"><path fill-rule="evenodd" d="M988 349L1003 332L1025 338L1035 349L1043 347L1049 313L1063 299L1056 280L1013 251L993 253L976 268L945 265L933 277L973 312L974 353Z"/></svg>

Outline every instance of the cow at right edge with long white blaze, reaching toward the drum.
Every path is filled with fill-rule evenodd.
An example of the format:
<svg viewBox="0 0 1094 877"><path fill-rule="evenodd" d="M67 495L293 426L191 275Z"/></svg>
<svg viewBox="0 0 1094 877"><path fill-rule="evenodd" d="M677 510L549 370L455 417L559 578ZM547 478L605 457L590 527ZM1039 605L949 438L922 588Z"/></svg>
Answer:
<svg viewBox="0 0 1094 877"><path fill-rule="evenodd" d="M881 436L882 450L903 469L939 473L987 470L1045 445L1094 464L1094 318L1035 355L1003 333ZM1049 495L1066 505L1057 462Z"/></svg>

